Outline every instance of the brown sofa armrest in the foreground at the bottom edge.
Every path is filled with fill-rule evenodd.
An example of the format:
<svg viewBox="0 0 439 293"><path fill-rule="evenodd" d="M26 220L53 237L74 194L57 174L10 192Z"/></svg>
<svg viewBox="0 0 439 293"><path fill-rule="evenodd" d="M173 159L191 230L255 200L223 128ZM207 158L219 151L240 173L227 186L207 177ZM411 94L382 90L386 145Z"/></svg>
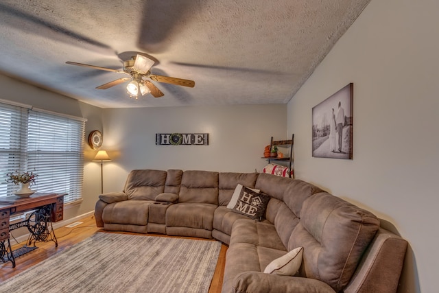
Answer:
<svg viewBox="0 0 439 293"><path fill-rule="evenodd" d="M316 279L279 276L277 274L265 274L263 272L241 272L237 274L237 277L233 280L233 287L230 292L335 293L327 283Z"/></svg>

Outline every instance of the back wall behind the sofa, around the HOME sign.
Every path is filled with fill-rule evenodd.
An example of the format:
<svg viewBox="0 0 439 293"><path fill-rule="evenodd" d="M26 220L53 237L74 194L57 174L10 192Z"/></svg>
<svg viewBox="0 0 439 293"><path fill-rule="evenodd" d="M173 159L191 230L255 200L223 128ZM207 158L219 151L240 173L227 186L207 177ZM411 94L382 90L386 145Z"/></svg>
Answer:
<svg viewBox="0 0 439 293"><path fill-rule="evenodd" d="M166 99L166 97L163 97ZM286 105L104 109L104 191L132 169L261 171L270 138L287 139ZM156 145L156 133L209 133L209 145Z"/></svg>

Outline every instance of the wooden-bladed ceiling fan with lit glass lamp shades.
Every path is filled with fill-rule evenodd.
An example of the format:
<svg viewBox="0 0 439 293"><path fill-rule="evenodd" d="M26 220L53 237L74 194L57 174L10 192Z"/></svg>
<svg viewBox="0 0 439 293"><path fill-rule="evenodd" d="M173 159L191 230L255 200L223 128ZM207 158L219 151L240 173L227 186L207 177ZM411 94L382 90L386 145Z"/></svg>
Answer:
<svg viewBox="0 0 439 293"><path fill-rule="evenodd" d="M104 71L112 71L116 73L124 73L126 75L131 75L126 78L119 78L117 80L113 80L112 82L107 82L106 84L102 84L97 86L96 89L108 89L111 86L116 86L117 84L121 84L122 82L127 82L131 80L126 89L130 97L135 97L136 99L140 95L146 95L147 93L151 93L154 97L163 97L163 93L160 89L158 89L152 82L146 80L149 78L150 80L154 80L155 82L165 82L167 84L176 84L178 86L195 86L195 82L193 80L183 80L182 78L171 78L169 76L156 75L152 74L150 69L152 65L154 65L154 60L147 58L143 55L137 54L137 56L132 56L130 60L123 61L123 69L110 69L106 67L98 67L95 65L88 65L78 62L66 62L69 65L78 65L83 67L90 67L93 69L99 69Z"/></svg>

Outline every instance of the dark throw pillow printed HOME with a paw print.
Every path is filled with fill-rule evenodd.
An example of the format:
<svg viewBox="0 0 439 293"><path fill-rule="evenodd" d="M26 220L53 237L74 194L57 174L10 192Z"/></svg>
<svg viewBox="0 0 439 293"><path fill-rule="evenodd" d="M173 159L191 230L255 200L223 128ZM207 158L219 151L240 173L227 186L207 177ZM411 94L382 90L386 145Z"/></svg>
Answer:
<svg viewBox="0 0 439 293"><path fill-rule="evenodd" d="M270 196L259 194L250 188L243 187L232 211L246 215L255 221L261 221L269 201Z"/></svg>

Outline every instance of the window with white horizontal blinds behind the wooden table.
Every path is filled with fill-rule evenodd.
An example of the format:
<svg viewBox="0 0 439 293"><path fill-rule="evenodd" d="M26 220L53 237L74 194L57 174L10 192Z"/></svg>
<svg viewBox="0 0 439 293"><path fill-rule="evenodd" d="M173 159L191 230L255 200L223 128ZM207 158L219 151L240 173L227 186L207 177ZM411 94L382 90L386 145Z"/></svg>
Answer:
<svg viewBox="0 0 439 293"><path fill-rule="evenodd" d="M8 172L38 174L32 189L81 198L85 120L44 110L0 103L0 196L15 188Z"/></svg>

